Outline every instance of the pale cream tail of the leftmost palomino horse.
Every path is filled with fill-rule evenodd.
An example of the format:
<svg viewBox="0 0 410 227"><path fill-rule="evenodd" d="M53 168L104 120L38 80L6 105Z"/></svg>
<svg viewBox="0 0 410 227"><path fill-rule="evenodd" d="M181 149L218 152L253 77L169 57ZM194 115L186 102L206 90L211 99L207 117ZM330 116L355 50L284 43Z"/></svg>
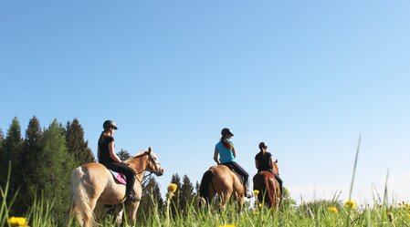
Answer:
<svg viewBox="0 0 410 227"><path fill-rule="evenodd" d="M75 212L77 220L82 225L84 223L90 223L91 226L95 226L97 222L95 221L94 214L91 209L89 202L89 194L86 190L87 182L84 181L85 172L81 167L73 170L71 175L71 204L72 212Z"/></svg>

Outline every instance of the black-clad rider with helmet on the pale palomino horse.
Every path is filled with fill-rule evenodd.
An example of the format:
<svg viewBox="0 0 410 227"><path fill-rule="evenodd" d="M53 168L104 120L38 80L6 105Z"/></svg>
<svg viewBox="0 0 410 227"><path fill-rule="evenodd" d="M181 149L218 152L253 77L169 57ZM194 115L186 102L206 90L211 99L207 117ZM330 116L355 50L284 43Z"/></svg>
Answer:
<svg viewBox="0 0 410 227"><path fill-rule="evenodd" d="M127 181L125 189L125 202L135 201L132 187L135 181L136 172L128 167L125 162L121 161L120 157L115 153L114 132L117 125L112 120L104 121L102 125L104 130L101 132L99 139L98 157L99 162L107 169L116 172L121 172Z"/></svg>

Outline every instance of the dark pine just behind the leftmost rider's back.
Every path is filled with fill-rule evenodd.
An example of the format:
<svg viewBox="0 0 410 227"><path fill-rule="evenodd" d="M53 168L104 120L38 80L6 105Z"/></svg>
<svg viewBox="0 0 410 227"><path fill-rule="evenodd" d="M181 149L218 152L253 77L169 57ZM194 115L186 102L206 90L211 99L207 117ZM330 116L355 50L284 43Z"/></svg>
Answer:
<svg viewBox="0 0 410 227"><path fill-rule="evenodd" d="M72 123L68 120L65 135L68 152L74 156L76 166L95 161L89 149L89 141L84 139L84 129L79 124L79 119L73 119Z"/></svg>

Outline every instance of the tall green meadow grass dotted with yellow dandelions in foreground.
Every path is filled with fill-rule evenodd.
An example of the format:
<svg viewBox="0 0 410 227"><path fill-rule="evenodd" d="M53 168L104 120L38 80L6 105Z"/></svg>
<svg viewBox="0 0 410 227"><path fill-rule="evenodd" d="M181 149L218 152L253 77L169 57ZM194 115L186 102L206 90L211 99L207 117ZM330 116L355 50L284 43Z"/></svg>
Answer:
<svg viewBox="0 0 410 227"><path fill-rule="evenodd" d="M360 150L361 138L359 138L356 156L354 159L352 171L352 183L349 191L349 201L352 201L352 189L356 174L357 160ZM155 204L150 212L144 213L140 220L137 220L138 226L410 226L410 204L397 204L391 201L387 202L387 179L384 188L383 200L373 199L373 205L358 204L357 207L345 205L340 201L339 195L335 194L331 201L310 201L303 202L299 206L283 203L279 209L268 209L265 206L259 207L263 201L255 204L246 202L242 212L237 212L236 202L229 203L222 210L211 206L206 209L198 209L196 201L193 201L184 212L176 212L170 215L170 206L173 205L167 198L165 207L158 208ZM9 213L13 204L15 195L10 195L8 183L4 189L1 189L2 205L0 208L0 226L8 226L7 220L12 213ZM6 198L11 197L10 204L7 204ZM153 201L153 198L151 198ZM216 206L217 207L217 206ZM69 206L68 206L69 208ZM58 220L52 216L53 203L47 202L44 198L35 200L25 218L32 227L54 227L58 226ZM68 209L69 210L69 209ZM107 212L103 220L98 220L101 226L117 226L115 216ZM123 219L123 226L132 226L130 220L126 217ZM68 226L78 226L73 221L73 217L68 218Z"/></svg>

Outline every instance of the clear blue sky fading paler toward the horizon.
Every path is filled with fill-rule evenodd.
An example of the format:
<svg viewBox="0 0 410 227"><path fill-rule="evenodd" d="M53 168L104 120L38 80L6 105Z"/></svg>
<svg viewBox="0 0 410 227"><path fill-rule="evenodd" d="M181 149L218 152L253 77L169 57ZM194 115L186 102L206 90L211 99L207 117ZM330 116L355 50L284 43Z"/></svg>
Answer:
<svg viewBox="0 0 410 227"><path fill-rule="evenodd" d="M300 201L410 200L409 1L1 1L0 128L78 118L91 150L149 146L200 181L220 130L256 173L258 143Z"/></svg>

